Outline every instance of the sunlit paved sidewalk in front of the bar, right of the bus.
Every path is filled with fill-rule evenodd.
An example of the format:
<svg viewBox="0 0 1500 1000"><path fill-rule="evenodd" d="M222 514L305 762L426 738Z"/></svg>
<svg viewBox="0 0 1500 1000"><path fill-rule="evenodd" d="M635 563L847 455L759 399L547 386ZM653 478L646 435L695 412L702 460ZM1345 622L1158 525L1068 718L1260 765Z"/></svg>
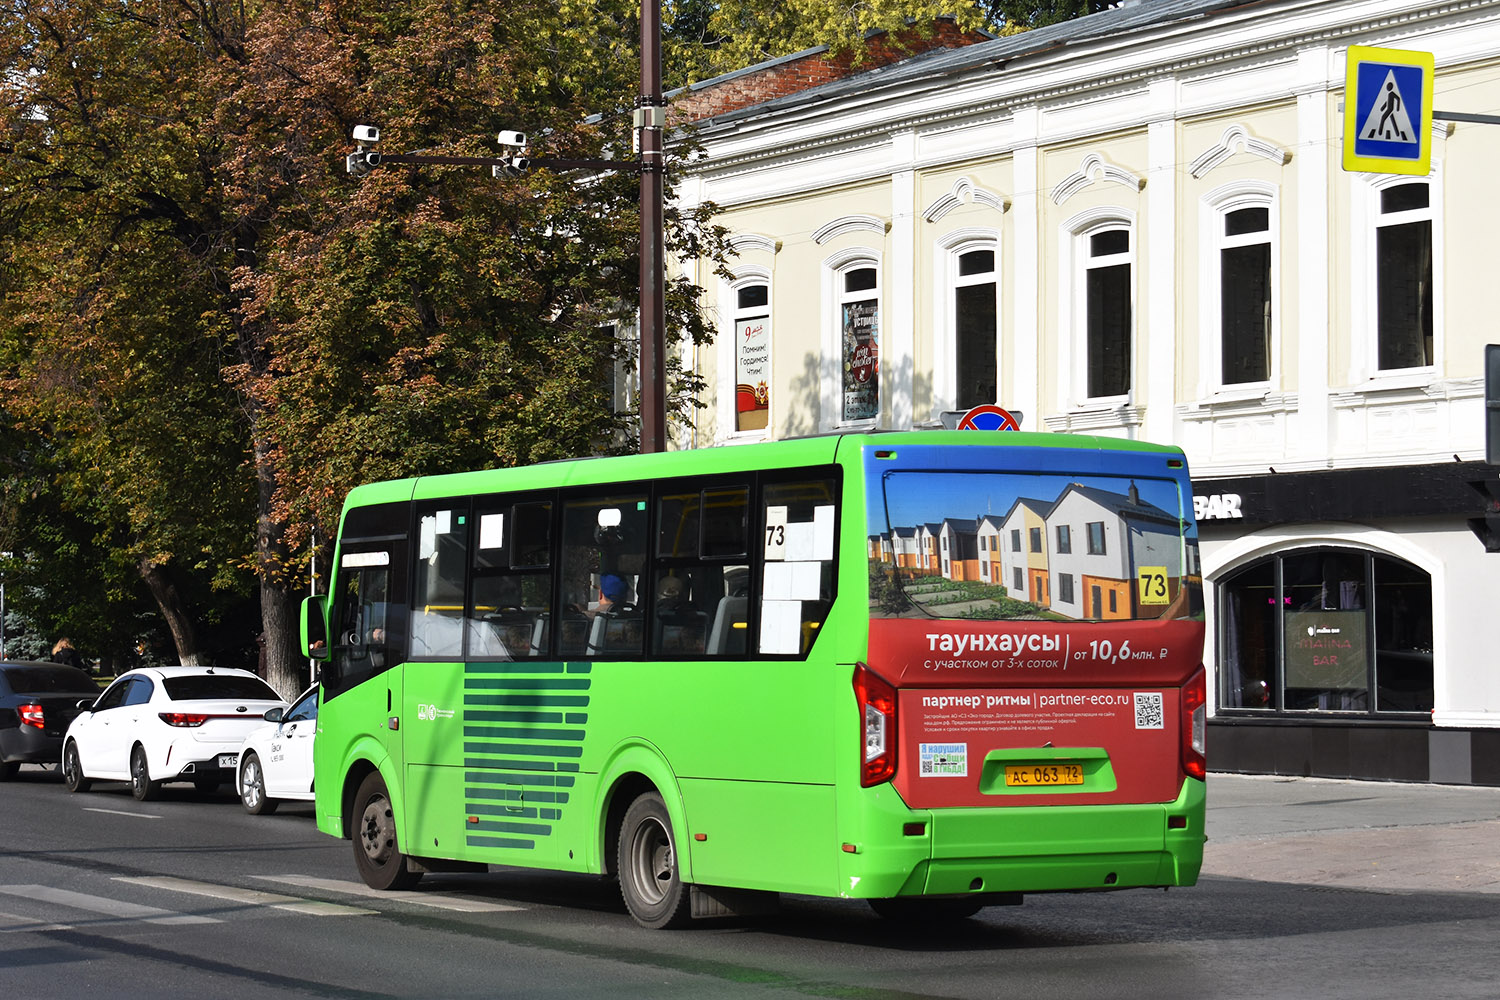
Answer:
<svg viewBox="0 0 1500 1000"><path fill-rule="evenodd" d="M1500 789L1209 774L1203 874L1500 894Z"/></svg>

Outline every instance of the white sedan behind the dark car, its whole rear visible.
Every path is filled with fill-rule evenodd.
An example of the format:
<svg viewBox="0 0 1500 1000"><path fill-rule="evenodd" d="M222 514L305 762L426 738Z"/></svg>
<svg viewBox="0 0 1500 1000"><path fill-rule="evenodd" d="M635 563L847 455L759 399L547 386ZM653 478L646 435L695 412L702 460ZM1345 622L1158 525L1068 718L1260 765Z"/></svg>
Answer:
<svg viewBox="0 0 1500 1000"><path fill-rule="evenodd" d="M154 798L165 781L190 781L201 793L234 780L240 744L285 708L249 670L142 667L120 675L68 727L63 783L87 792L96 781L129 781Z"/></svg>

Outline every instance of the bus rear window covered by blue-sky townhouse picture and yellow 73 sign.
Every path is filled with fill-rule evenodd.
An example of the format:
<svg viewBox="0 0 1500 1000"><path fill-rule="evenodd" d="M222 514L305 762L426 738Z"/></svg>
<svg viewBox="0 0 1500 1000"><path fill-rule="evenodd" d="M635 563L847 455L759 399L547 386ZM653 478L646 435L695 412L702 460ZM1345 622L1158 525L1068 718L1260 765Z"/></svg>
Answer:
<svg viewBox="0 0 1500 1000"><path fill-rule="evenodd" d="M890 471L870 496L870 615L1122 621L1202 612L1178 483Z"/></svg>

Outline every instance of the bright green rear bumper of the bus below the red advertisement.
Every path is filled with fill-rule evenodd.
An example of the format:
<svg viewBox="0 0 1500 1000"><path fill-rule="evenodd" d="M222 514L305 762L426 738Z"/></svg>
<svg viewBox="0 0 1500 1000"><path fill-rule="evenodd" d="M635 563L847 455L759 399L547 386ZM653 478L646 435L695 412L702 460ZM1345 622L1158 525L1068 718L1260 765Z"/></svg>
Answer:
<svg viewBox="0 0 1500 1000"><path fill-rule="evenodd" d="M926 843L866 855L870 868L849 895L1191 886L1203 867L1203 783L1188 778L1174 802L916 811Z"/></svg>

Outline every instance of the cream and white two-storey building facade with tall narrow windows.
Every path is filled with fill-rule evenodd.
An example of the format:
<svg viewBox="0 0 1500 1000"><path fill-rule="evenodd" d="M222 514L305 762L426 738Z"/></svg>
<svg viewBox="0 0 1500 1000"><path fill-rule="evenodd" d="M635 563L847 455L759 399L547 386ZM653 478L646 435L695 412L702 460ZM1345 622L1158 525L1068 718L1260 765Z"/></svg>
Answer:
<svg viewBox="0 0 1500 1000"><path fill-rule="evenodd" d="M1436 121L1425 177L1342 171L1350 45L1432 52L1440 112L1500 114L1500 0L1142 0L700 123L680 196L738 256L680 264L720 336L675 444L981 402L1178 444L1214 766L1500 784L1470 528L1500 126Z"/></svg>

